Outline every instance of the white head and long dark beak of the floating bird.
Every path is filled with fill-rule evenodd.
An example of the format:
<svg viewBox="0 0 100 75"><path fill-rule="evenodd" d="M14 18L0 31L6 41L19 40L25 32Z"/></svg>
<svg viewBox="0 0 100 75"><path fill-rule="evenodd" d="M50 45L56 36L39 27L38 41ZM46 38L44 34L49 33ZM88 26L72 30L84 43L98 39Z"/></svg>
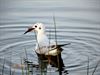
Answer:
<svg viewBox="0 0 100 75"><path fill-rule="evenodd" d="M24 34L31 32L31 31L35 31L37 33L44 33L45 32L45 26L42 23L35 23L33 26L28 28L28 30Z"/></svg>

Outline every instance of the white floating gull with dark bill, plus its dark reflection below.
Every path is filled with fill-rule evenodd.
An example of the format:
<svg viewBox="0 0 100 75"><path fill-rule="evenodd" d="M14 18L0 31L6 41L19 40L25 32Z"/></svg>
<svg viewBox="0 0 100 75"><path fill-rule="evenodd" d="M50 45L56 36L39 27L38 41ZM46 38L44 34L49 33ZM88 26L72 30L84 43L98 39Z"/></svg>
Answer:
<svg viewBox="0 0 100 75"><path fill-rule="evenodd" d="M35 23L25 31L24 34L34 31L36 33L35 52L38 56L39 64L50 64L58 70L64 70L64 62L62 59L62 47L68 44L56 44L54 40L50 40L46 34L46 28L43 23Z"/></svg>

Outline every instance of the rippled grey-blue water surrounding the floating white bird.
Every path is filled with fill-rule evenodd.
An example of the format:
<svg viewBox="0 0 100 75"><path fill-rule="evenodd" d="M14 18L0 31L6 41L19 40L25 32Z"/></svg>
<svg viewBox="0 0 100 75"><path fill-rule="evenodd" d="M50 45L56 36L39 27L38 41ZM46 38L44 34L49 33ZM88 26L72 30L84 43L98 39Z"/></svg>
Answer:
<svg viewBox="0 0 100 75"><path fill-rule="evenodd" d="M18 64L20 57L25 57L25 49L28 59L37 64L34 33L23 33L32 24L42 22L54 39L53 13L58 43L71 43L62 52L69 75L87 75L88 56L92 74L100 60L99 0L0 0L0 74L5 58L4 74L10 74L13 64L11 70L21 75ZM94 75L100 75L100 64Z"/></svg>

